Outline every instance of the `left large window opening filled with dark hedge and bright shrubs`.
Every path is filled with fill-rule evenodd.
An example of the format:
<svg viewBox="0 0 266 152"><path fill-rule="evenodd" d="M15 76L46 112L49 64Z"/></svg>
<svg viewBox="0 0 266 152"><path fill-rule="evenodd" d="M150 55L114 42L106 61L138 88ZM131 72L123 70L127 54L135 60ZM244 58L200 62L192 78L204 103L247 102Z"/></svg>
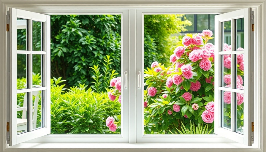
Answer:
<svg viewBox="0 0 266 152"><path fill-rule="evenodd" d="M121 15L50 17L51 134L121 134Z"/></svg>

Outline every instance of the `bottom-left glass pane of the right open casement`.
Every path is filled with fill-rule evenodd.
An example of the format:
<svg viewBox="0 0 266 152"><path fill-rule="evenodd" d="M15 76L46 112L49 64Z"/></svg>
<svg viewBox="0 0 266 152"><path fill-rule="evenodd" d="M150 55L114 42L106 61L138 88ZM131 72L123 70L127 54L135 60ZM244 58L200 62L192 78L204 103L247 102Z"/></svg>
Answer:
<svg viewBox="0 0 266 152"><path fill-rule="evenodd" d="M222 91L222 127L231 128L231 92Z"/></svg>

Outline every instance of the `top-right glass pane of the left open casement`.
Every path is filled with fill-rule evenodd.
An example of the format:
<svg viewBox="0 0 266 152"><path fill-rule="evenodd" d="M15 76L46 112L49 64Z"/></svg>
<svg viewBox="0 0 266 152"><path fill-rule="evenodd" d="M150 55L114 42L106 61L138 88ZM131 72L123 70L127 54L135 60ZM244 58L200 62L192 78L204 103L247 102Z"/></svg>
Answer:
<svg viewBox="0 0 266 152"><path fill-rule="evenodd" d="M42 49L42 22L32 21L32 50Z"/></svg>

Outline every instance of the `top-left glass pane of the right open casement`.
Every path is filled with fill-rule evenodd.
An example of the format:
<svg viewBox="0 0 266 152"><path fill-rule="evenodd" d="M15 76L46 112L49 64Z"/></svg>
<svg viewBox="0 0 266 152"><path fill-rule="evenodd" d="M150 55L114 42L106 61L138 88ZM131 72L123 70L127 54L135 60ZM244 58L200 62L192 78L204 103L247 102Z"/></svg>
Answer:
<svg viewBox="0 0 266 152"><path fill-rule="evenodd" d="M231 21L222 23L223 26L223 51L231 51Z"/></svg>

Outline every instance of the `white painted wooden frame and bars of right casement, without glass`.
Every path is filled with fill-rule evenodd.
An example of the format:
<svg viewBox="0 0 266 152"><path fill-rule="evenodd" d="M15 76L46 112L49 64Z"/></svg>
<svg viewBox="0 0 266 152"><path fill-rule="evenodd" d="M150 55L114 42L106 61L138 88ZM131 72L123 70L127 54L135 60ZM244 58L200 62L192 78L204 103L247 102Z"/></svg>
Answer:
<svg viewBox="0 0 266 152"><path fill-rule="evenodd" d="M251 79L251 76L254 75L254 32L251 31L251 13L252 13L252 8L246 8L246 9L241 9L238 11L234 12L229 12L229 13L224 13L221 15L216 15L215 17L215 47L216 47L216 52L215 55L219 56L219 51L221 50L221 45L223 45L222 42L222 37L220 36L221 32L221 22L231 20L231 27L235 27L234 25L234 20L238 18L244 18L244 51L231 51L231 58L232 58L232 64L231 64L231 88L224 88L221 87L221 79L222 79L222 72L221 67L221 56L218 57L218 60L215 61L215 66L218 68L215 68L215 128L214 132L218 135L221 135L223 137L227 137L229 139L235 140L237 142L243 143L245 145L252 145L251 142L251 122L254 122L254 82ZM254 14L254 13L253 13ZM254 20L253 20L254 22ZM231 44L232 44L232 49L235 48L235 29L231 28ZM233 53L235 52L235 53ZM235 75L235 55L238 53L243 53L244 54L244 90L240 89L235 89L234 86L236 84L234 77ZM217 79L218 77L218 79ZM231 91L231 129L230 131L228 129L222 128L222 122L223 118L222 116L222 108L221 105L223 104L222 99L222 94L221 90L224 91ZM236 102L234 101L234 93L244 93L244 135L238 134L235 132L235 107L236 107ZM254 134L254 133L253 133Z"/></svg>

